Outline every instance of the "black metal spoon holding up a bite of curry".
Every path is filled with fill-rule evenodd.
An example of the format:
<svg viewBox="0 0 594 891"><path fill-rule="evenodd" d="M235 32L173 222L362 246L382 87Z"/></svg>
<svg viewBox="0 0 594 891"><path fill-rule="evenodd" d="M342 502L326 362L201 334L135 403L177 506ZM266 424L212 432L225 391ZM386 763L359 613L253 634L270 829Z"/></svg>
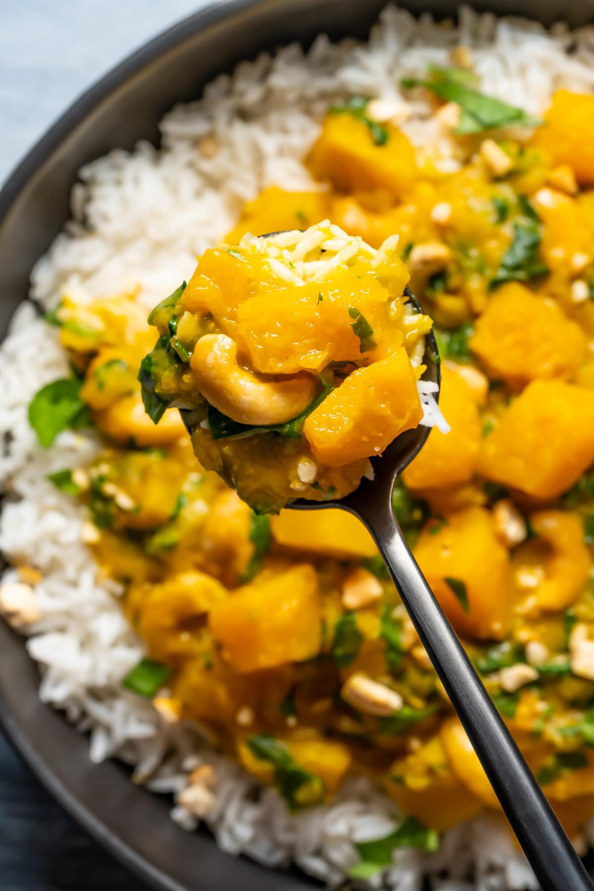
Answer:
<svg viewBox="0 0 594 891"><path fill-rule="evenodd" d="M405 295L415 310L421 312L409 288L405 289ZM426 338L423 361L427 370L422 380L433 381L439 387L439 354L433 332ZM182 416L191 434L191 413L182 411ZM543 891L592 891L594 886L582 861L435 600L395 519L392 509L395 481L419 453L428 435L428 427L418 427L396 437L381 457L371 458L375 478L363 479L346 498L327 502L297 499L288 506L301 511L340 508L362 520L378 545L412 624L541 888Z"/></svg>

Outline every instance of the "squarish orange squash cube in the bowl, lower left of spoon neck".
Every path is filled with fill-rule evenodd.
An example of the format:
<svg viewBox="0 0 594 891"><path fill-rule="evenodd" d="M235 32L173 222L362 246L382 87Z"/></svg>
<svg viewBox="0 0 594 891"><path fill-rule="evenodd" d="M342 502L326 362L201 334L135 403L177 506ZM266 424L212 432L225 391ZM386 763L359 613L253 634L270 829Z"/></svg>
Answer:
<svg viewBox="0 0 594 891"><path fill-rule="evenodd" d="M224 658L241 672L312 658L321 641L315 569L303 563L240 588L216 604L208 624Z"/></svg>

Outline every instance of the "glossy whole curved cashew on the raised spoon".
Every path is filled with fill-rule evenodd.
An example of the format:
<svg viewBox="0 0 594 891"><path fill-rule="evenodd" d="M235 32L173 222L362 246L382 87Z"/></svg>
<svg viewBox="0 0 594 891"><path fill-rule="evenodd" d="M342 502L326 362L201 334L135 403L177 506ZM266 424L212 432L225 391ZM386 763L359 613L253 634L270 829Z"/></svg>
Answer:
<svg viewBox="0 0 594 891"><path fill-rule="evenodd" d="M316 381L306 372L264 380L241 368L237 347L225 334L205 334L191 356L200 392L210 405L240 424L283 424L305 411Z"/></svg>

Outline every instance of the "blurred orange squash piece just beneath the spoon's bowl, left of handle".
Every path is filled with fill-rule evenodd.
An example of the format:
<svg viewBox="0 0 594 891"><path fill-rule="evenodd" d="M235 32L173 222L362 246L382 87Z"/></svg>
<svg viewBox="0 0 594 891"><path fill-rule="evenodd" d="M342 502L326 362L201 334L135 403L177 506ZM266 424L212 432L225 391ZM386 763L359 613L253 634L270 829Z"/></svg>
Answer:
<svg viewBox="0 0 594 891"><path fill-rule="evenodd" d="M274 540L284 547L332 557L374 557L378 549L360 519L346 511L281 511L270 518Z"/></svg>

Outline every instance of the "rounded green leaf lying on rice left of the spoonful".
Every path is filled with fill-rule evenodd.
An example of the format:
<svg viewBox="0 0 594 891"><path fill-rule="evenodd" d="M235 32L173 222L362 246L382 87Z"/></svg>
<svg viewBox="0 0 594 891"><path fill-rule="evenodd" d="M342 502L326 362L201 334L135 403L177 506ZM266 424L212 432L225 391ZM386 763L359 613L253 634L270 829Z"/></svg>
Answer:
<svg viewBox="0 0 594 891"><path fill-rule="evenodd" d="M67 428L90 427L91 415L80 398L82 380L53 380L37 391L28 405L28 422L39 443L48 448Z"/></svg>

